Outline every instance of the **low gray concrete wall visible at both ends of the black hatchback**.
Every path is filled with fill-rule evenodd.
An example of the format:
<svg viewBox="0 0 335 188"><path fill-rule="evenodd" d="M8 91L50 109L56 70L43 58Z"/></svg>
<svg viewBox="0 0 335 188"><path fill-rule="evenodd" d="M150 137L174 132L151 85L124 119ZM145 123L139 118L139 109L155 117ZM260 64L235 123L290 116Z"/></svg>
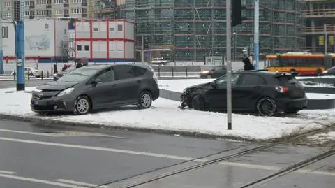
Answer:
<svg viewBox="0 0 335 188"><path fill-rule="evenodd" d="M160 97L173 101L180 101L180 92L160 89ZM308 99L306 110L326 110L335 108L335 99Z"/></svg>

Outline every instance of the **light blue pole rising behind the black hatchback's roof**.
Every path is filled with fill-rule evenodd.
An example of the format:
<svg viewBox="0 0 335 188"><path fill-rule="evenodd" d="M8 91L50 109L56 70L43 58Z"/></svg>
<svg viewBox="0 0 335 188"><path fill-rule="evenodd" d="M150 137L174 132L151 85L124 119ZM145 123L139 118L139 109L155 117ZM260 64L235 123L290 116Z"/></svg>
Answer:
<svg viewBox="0 0 335 188"><path fill-rule="evenodd" d="M255 69L258 69L260 62L260 0L255 0L254 26L253 59L255 60Z"/></svg>

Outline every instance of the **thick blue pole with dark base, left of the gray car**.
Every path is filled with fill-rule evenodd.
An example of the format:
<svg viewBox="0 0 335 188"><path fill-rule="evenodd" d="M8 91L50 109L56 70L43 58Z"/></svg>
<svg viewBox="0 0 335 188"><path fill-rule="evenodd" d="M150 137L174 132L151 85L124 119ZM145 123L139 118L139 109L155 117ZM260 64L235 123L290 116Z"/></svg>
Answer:
<svg viewBox="0 0 335 188"><path fill-rule="evenodd" d="M24 90L24 17L23 17L24 0L13 1L13 21L16 22L15 28L15 53L16 53L16 90Z"/></svg>

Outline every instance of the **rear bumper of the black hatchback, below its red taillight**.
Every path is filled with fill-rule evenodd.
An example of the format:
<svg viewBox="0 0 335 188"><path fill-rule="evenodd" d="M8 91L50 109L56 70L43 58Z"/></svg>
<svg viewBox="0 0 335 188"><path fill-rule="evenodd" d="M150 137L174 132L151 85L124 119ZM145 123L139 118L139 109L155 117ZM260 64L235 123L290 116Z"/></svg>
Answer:
<svg viewBox="0 0 335 188"><path fill-rule="evenodd" d="M303 110L308 106L306 96L299 99L281 99L278 102L280 110Z"/></svg>

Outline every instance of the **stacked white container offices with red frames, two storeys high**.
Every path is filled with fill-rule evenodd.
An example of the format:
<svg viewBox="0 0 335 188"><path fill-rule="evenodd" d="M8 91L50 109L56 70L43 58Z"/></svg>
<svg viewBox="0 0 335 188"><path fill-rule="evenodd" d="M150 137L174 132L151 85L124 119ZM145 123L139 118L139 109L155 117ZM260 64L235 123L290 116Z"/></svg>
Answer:
<svg viewBox="0 0 335 188"><path fill-rule="evenodd" d="M134 23L128 20L76 20L75 58L90 62L133 62Z"/></svg>

